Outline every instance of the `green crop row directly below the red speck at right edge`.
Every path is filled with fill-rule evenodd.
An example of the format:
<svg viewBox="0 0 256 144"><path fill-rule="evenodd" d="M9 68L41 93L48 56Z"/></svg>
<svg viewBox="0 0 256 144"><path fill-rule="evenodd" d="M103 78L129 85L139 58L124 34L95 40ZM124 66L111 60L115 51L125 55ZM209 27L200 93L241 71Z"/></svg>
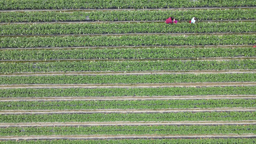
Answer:
<svg viewBox="0 0 256 144"><path fill-rule="evenodd" d="M0 50L0 60L256 57L255 48L115 48Z"/></svg>

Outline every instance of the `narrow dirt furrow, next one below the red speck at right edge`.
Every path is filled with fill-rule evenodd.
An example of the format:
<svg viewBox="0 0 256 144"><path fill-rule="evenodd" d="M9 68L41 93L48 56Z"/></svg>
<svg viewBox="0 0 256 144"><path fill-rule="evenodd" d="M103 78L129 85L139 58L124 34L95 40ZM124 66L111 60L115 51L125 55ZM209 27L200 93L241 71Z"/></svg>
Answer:
<svg viewBox="0 0 256 144"><path fill-rule="evenodd" d="M56 60L0 60L0 62L55 62L55 61L150 61L150 60L256 60L256 57L163 58L163 59L56 59Z"/></svg>

